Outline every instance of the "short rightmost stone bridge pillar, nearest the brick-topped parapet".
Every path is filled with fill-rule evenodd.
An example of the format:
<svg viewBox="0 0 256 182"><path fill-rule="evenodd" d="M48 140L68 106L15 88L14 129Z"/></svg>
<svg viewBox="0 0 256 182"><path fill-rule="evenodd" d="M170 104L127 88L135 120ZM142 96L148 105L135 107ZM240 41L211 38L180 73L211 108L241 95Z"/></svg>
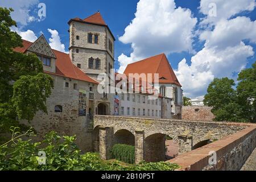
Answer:
<svg viewBox="0 0 256 182"><path fill-rule="evenodd" d="M183 154L185 152L189 152L192 150L192 135L179 135L179 154Z"/></svg>

